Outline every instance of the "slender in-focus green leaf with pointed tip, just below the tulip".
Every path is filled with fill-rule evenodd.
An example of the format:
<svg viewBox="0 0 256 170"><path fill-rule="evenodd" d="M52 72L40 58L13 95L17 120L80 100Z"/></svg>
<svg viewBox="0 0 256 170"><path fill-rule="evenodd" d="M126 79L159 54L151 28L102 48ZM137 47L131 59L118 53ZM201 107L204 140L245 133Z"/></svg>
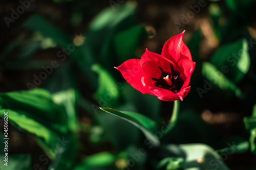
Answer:
<svg viewBox="0 0 256 170"><path fill-rule="evenodd" d="M133 112L120 112L111 108L100 108L101 110L116 115L127 122L130 122L137 128L139 128L148 140L153 141L155 145L159 145L160 141L153 132L156 130L156 123L150 118Z"/></svg>

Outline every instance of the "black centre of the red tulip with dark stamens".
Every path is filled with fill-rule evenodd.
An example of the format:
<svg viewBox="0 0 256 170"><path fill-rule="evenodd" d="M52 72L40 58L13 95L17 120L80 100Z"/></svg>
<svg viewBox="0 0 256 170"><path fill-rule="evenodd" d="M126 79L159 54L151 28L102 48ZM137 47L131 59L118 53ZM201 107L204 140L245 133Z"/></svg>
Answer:
<svg viewBox="0 0 256 170"><path fill-rule="evenodd" d="M159 68L162 71L160 78L159 79L152 78L152 80L156 81L155 85L157 87L161 87L161 88L165 88L170 91L173 91L174 93L179 92L184 81L182 80L180 73L174 70L173 64L170 63L169 72L165 72L161 67Z"/></svg>

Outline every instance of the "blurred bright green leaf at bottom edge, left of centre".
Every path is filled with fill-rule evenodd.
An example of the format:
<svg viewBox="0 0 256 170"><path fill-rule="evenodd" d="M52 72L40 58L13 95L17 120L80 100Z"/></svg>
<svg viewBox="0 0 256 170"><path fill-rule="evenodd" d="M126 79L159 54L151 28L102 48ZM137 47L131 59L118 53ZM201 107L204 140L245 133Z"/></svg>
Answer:
<svg viewBox="0 0 256 170"><path fill-rule="evenodd" d="M101 152L85 158L81 163L77 164L74 170L87 170L94 167L108 166L115 162L116 156L109 152Z"/></svg>

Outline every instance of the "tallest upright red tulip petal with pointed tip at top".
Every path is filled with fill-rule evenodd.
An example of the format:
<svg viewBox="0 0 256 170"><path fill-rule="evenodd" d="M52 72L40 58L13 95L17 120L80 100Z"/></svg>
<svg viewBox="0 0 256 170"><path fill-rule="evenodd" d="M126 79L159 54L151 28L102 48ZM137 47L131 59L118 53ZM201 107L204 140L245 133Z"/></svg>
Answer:
<svg viewBox="0 0 256 170"><path fill-rule="evenodd" d="M190 51L186 44L183 42L184 32L185 31L167 40L162 49L161 55L173 61L174 63L178 63L178 61L181 59L192 60Z"/></svg>

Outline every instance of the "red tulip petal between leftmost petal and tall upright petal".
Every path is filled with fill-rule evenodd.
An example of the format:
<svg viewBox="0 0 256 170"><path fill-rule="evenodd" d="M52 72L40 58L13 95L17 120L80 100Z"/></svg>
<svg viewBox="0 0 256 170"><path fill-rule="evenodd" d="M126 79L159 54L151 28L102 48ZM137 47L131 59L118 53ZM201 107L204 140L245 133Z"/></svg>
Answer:
<svg viewBox="0 0 256 170"><path fill-rule="evenodd" d="M177 70L176 65L172 61L162 57L159 54L150 52L147 49L142 55L140 63L147 79L151 80L153 84L155 81L153 81L152 78L159 79L162 74L162 70L165 72L170 72L170 64L172 64L174 69Z"/></svg>

